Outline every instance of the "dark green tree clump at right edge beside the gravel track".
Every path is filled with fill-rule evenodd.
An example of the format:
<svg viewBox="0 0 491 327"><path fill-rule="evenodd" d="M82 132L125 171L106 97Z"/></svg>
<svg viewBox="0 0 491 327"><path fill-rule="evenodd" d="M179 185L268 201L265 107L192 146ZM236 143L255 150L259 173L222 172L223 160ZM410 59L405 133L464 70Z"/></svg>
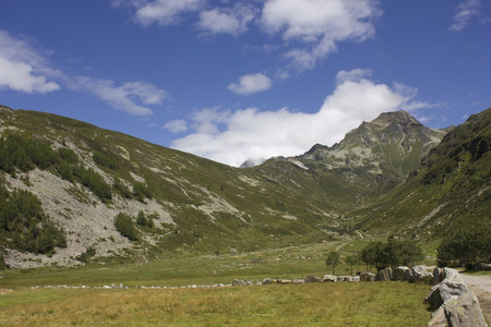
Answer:
<svg viewBox="0 0 491 327"><path fill-rule="evenodd" d="M455 229L438 247L439 266L466 266L491 263L491 221L479 221Z"/></svg>

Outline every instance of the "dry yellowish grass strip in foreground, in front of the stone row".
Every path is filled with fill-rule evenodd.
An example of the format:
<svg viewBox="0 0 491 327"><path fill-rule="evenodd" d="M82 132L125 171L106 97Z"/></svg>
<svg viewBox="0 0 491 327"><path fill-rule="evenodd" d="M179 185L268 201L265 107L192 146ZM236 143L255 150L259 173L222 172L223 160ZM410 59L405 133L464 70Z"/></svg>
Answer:
<svg viewBox="0 0 491 327"><path fill-rule="evenodd" d="M178 290L16 290L2 326L423 326L429 286L312 283Z"/></svg>

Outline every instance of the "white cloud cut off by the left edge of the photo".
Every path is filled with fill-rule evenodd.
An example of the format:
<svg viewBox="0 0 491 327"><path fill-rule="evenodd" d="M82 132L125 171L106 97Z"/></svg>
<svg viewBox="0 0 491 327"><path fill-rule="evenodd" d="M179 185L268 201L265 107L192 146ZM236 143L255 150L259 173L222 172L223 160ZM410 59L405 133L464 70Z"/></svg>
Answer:
<svg viewBox="0 0 491 327"><path fill-rule="evenodd" d="M28 94L57 90L60 85L48 78L58 74L28 40L0 31L0 89Z"/></svg>

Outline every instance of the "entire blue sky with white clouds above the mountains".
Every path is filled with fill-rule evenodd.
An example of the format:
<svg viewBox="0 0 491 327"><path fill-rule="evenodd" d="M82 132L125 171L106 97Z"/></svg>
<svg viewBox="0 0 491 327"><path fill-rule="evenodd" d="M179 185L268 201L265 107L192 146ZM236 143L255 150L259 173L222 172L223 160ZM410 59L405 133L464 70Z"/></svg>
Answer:
<svg viewBox="0 0 491 327"><path fill-rule="evenodd" d="M491 107L489 0L0 0L0 104L230 166Z"/></svg>

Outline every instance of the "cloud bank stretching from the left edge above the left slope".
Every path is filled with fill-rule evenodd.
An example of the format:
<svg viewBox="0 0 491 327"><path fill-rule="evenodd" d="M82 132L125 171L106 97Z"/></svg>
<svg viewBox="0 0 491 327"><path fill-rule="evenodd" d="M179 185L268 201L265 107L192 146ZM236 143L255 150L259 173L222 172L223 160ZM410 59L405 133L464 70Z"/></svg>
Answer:
<svg viewBox="0 0 491 327"><path fill-rule="evenodd" d="M57 70L32 41L0 31L0 90L44 94L64 87L93 94L115 109L134 116L152 114L147 106L159 105L167 98L165 89L146 82L115 84L111 80L70 75Z"/></svg>

